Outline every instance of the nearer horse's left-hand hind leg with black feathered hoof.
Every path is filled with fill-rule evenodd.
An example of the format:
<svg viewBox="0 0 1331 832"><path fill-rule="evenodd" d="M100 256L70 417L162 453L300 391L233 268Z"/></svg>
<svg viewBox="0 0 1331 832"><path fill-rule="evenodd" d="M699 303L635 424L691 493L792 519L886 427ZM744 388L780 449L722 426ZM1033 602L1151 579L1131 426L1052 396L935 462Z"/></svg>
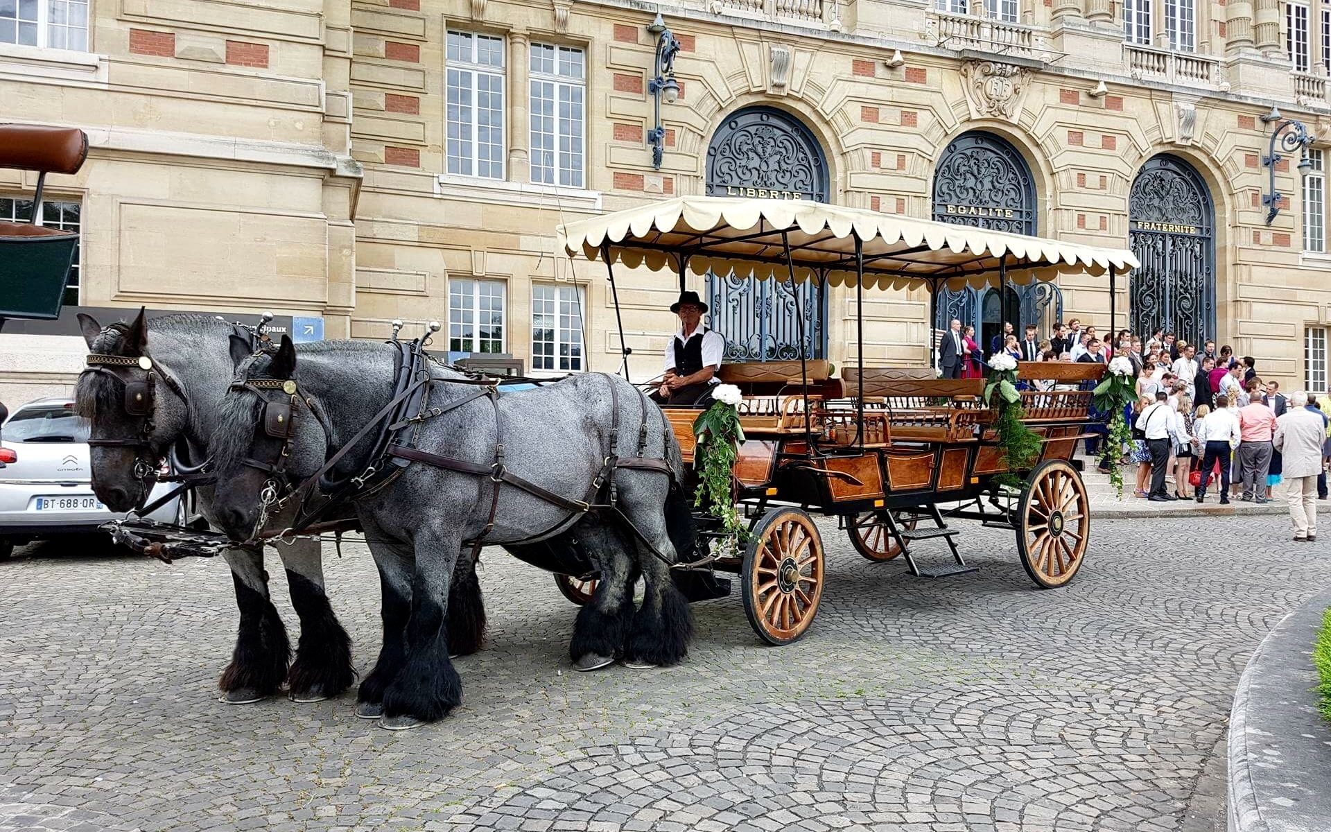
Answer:
<svg viewBox="0 0 1331 832"><path fill-rule="evenodd" d="M579 543L600 567L600 583L591 603L578 611L568 658L576 670L592 671L614 664L624 655L634 620L638 556L631 548L634 542L599 518L588 518L576 528Z"/></svg>

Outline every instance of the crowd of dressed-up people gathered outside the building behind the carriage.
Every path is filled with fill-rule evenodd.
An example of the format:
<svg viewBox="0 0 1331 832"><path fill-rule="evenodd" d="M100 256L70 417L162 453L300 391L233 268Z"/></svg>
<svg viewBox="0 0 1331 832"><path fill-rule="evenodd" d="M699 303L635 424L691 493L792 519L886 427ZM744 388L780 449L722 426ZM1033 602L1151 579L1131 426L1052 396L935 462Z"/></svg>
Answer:
<svg viewBox="0 0 1331 832"><path fill-rule="evenodd" d="M976 341L973 326L962 327L953 319L940 341L940 369L944 378L980 378L985 357L998 353L1018 362L1107 363L1127 358L1137 377L1137 402L1123 414L1133 441L1122 450L1137 466L1137 498L1202 503L1211 493L1219 503L1264 503L1271 489L1287 479L1295 539L1315 539L1315 501L1327 499L1331 467L1327 391L1286 395L1279 382L1262 379L1255 358L1236 357L1227 345L1217 350L1213 339L1186 343L1165 330L1142 338L1126 329L1101 338L1094 326L1082 326L1077 318L1054 323L1047 337L1041 337L1036 325L1024 327L1018 337L1013 325L1005 323L988 345ZM1099 435L1087 439L1086 451L1098 457L1109 414L1093 415L1099 419ZM1316 449L1310 450L1314 423Z"/></svg>

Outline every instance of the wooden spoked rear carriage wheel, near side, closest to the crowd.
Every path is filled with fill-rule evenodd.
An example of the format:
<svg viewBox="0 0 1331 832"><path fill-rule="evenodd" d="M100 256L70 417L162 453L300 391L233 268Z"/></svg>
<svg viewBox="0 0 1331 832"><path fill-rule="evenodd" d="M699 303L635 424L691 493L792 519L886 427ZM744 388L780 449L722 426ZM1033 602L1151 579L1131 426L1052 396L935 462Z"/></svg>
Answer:
<svg viewBox="0 0 1331 832"><path fill-rule="evenodd" d="M1037 467L1017 511L1017 551L1030 579L1046 590L1071 580L1090 540L1090 505L1077 469L1063 459Z"/></svg>

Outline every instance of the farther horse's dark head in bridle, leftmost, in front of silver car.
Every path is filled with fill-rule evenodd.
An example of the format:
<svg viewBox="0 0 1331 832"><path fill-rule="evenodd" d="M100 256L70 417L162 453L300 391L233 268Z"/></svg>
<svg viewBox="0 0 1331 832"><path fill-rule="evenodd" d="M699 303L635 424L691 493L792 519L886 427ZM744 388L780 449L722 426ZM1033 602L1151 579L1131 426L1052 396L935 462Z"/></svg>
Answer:
<svg viewBox="0 0 1331 832"><path fill-rule="evenodd" d="M75 409L89 421L93 493L112 511L129 511L144 505L158 461L185 429L185 397L152 357L142 309L132 323L101 326L80 314L79 326L89 355Z"/></svg>

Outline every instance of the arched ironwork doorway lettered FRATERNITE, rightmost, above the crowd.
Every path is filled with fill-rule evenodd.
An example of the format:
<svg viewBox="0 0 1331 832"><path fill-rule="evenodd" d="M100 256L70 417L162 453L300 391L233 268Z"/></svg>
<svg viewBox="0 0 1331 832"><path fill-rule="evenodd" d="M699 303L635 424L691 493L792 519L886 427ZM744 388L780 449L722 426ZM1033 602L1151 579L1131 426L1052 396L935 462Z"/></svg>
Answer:
<svg viewBox="0 0 1331 832"><path fill-rule="evenodd" d="M1181 341L1215 337L1215 206L1193 165L1162 153L1142 165L1127 198L1133 253L1133 329L1173 330Z"/></svg>

